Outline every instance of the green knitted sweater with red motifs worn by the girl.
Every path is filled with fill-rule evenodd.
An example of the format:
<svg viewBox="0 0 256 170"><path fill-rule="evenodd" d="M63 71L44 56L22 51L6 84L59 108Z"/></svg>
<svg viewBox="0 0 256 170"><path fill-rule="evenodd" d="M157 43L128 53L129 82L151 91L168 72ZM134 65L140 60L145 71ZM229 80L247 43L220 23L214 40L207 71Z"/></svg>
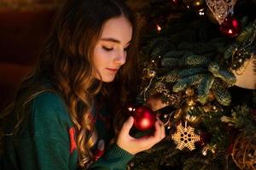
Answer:
<svg viewBox="0 0 256 170"><path fill-rule="evenodd" d="M31 110L19 133L5 138L0 169L78 170L76 132L61 96L52 92L38 94ZM99 142L95 147L96 161L89 169L126 169L133 155L117 144L106 147L112 138L108 111L102 107L95 117Z"/></svg>

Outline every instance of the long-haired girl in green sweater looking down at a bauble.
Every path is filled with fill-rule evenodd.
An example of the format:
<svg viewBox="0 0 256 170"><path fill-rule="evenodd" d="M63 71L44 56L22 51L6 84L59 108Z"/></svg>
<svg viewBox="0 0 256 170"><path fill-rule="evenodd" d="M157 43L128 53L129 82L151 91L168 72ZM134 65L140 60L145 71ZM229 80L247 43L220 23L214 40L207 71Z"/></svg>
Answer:
<svg viewBox="0 0 256 170"><path fill-rule="evenodd" d="M1 169L125 169L165 137L159 120L141 139L129 134L133 118L123 121L137 66L137 25L125 3L67 0L38 66L1 114Z"/></svg>

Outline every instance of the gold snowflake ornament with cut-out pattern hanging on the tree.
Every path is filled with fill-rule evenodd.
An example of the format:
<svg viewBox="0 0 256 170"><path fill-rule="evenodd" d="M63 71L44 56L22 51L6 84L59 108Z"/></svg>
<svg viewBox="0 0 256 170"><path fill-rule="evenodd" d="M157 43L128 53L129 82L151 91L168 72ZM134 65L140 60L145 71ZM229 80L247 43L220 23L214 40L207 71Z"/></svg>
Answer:
<svg viewBox="0 0 256 170"><path fill-rule="evenodd" d="M177 132L172 134L172 139L177 143L177 149L183 150L188 148L189 150L195 150L195 142L200 140L200 136L195 134L195 128L187 127L187 122L185 122L185 127L182 123L177 125Z"/></svg>

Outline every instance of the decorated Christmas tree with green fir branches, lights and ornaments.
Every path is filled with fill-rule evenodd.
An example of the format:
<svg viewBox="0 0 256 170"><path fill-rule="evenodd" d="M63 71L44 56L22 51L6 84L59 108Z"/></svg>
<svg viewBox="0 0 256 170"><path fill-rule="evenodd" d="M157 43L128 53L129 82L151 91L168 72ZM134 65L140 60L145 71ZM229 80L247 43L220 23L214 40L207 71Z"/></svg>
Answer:
<svg viewBox="0 0 256 170"><path fill-rule="evenodd" d="M128 169L256 169L255 82L243 88L247 99L231 90L238 77L256 77L255 10L255 0L151 0L138 10L137 103L160 116L166 139L137 154Z"/></svg>

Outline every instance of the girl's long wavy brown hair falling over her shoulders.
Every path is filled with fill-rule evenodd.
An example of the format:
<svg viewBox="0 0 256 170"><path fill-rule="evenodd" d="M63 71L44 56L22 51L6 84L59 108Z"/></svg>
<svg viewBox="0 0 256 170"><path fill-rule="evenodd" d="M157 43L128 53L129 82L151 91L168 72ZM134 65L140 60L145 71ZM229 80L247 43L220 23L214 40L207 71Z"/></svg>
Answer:
<svg viewBox="0 0 256 170"><path fill-rule="evenodd" d="M105 84L94 77L93 52L104 23L119 16L125 16L131 22L131 44L125 65L113 82ZM96 130L90 116L96 94L103 91L105 96L111 96L109 101L113 111L122 114L120 109L133 94L131 87L137 88L137 32L136 17L122 0L67 0L56 14L53 29L38 57L38 65L21 83L14 102L1 113L0 124L3 125L6 117L15 115L12 134L17 133L35 96L48 90L59 93L78 133L79 166L88 167L93 161L90 149L96 142ZM50 88L45 87L44 82L48 82ZM0 142L3 137L2 127Z"/></svg>

